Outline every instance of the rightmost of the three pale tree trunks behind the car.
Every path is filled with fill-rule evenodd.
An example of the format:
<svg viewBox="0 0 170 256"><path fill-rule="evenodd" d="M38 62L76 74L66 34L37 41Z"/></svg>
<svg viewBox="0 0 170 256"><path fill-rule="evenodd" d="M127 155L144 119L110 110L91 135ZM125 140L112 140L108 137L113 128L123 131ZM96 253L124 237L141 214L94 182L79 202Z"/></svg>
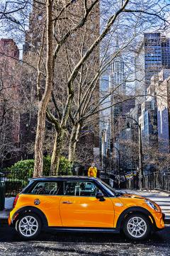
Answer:
<svg viewBox="0 0 170 256"><path fill-rule="evenodd" d="M74 163L77 143L79 141L81 125L78 123L72 129L72 134L69 140L69 162Z"/></svg>

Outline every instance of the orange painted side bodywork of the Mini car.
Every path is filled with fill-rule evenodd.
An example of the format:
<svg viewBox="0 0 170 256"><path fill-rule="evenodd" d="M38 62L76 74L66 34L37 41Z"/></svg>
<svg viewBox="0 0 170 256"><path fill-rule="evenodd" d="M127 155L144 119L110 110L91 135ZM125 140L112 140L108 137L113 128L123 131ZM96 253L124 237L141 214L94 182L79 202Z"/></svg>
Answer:
<svg viewBox="0 0 170 256"><path fill-rule="evenodd" d="M34 204L36 199L40 200L40 204ZM115 228L123 211L133 206L139 206L152 214L157 228L164 228L162 211L159 206L157 206L159 211L154 211L145 203L145 198L142 196L125 194L105 199L105 201L99 201L94 196L21 194L16 207L10 213L8 223L11 224L11 219L18 209L33 206L45 214L48 226ZM69 201L71 204L63 204L65 201Z"/></svg>

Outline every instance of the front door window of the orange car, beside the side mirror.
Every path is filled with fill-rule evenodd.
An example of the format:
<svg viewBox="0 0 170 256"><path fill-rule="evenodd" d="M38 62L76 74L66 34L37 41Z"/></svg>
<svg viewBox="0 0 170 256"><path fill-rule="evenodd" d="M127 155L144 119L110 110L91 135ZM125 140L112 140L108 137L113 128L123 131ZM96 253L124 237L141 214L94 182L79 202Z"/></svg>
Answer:
<svg viewBox="0 0 170 256"><path fill-rule="evenodd" d="M96 196L101 192L93 182L64 182L65 196Z"/></svg>

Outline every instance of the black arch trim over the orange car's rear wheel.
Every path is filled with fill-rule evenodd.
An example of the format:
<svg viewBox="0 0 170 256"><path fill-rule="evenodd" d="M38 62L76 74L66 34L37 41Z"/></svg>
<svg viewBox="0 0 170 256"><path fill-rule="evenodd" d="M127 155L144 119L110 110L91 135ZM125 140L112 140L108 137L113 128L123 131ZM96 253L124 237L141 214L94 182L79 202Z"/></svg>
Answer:
<svg viewBox="0 0 170 256"><path fill-rule="evenodd" d="M42 226L45 226L45 227L48 226L47 217L45 216L45 214L39 208L36 208L34 206L25 206L25 207L18 209L16 211L16 213L14 213L11 218L11 226L15 225L16 221L18 220L18 218L20 216L22 216L23 214L28 213L28 212L35 213L36 215L38 215L38 217L41 220Z"/></svg>

